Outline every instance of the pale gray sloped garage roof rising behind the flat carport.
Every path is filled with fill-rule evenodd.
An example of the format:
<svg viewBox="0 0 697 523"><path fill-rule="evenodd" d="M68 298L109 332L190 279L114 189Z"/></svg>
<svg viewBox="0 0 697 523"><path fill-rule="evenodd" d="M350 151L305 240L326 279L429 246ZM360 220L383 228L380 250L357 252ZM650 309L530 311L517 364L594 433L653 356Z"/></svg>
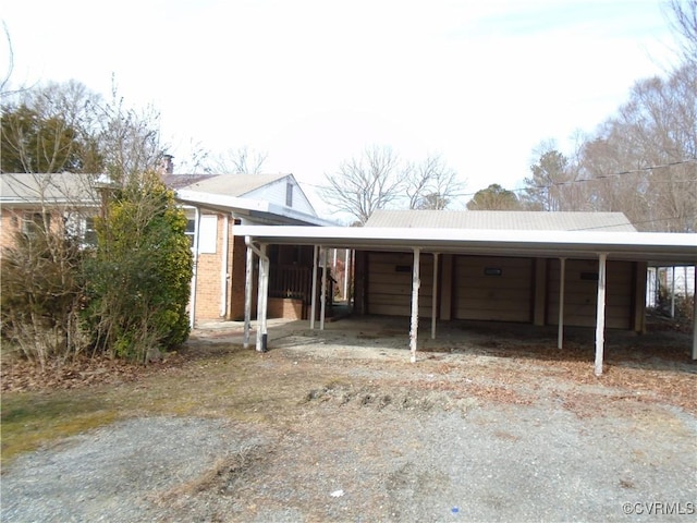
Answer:
<svg viewBox="0 0 697 523"><path fill-rule="evenodd" d="M623 212L376 210L365 227L637 232Z"/></svg>

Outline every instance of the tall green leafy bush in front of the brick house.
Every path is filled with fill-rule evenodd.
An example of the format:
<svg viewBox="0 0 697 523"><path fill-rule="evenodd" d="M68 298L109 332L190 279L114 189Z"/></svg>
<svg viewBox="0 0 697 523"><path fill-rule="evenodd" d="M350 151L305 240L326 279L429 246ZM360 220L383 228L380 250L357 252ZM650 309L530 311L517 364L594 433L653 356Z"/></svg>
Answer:
<svg viewBox="0 0 697 523"><path fill-rule="evenodd" d="M83 315L95 346L146 361L184 342L193 258L173 193L157 174L146 174L111 194L96 229Z"/></svg>

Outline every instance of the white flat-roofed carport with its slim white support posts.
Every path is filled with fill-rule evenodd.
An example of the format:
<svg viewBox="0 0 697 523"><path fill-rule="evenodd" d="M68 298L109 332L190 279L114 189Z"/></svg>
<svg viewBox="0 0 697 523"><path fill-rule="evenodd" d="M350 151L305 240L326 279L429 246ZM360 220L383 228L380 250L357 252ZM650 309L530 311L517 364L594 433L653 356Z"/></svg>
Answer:
<svg viewBox="0 0 697 523"><path fill-rule="evenodd" d="M695 266L697 265L697 235L686 233L649 232L591 232L591 231L525 231L525 230L480 230L480 229L420 229L420 228L346 228L346 227L267 227L241 226L234 234L244 236L247 248L253 251L259 263L257 285L257 340L258 351L266 350L266 289L268 289L269 263L266 257L268 245L311 245L315 247L315 269L318 252L325 248L350 248L354 251L378 251L412 253L412 299L409 321L411 361L416 362L418 339L418 311L421 254L468 254L489 256L530 256L554 258L561 262L562 272L567 259L597 259L597 309L595 374L602 374L606 332L606 289L607 263L612 260L644 262L649 265ZM322 262L326 265L326 259ZM433 281L438 280L438 264L433 264ZM326 275L327 271L325 270ZM247 270L246 302L250 304L252 270ZM315 275L316 276L316 275ZM317 278L313 284L316 285ZM320 329L323 329L323 299L327 281L322 280L320 297ZM564 285L560 285L560 318L558 344L563 343ZM313 292L313 296L318 293ZM436 292L433 292L436 300ZM315 297L313 311L315 311ZM250 307L245 312L245 340L248 340ZM697 318L697 305L694 311ZM311 315L310 328L315 328ZM431 337L436 337L437 318L432 315ZM692 357L697 360L697 320L693 323Z"/></svg>

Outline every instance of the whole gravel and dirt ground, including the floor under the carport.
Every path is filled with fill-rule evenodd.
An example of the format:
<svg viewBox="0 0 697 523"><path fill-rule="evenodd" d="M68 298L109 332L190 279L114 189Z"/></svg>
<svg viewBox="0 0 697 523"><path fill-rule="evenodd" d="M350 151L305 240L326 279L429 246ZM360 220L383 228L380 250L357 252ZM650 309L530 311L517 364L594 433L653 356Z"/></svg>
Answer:
<svg viewBox="0 0 697 523"><path fill-rule="evenodd" d="M531 326L419 335L411 364L405 318L272 321L265 354L241 349L239 324L201 326L159 370L194 409L21 455L0 519L694 521L688 333L609 332L601 377L590 329L562 351Z"/></svg>

